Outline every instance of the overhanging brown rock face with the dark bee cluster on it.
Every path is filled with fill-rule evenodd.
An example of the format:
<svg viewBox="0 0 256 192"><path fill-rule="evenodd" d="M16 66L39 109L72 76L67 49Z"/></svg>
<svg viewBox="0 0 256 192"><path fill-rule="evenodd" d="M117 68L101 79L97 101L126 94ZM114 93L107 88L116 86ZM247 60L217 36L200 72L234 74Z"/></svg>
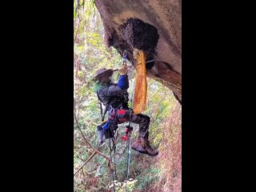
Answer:
<svg viewBox="0 0 256 192"><path fill-rule="evenodd" d="M134 63L134 48L144 50L147 76L170 88L182 103L181 0L95 0L107 46Z"/></svg>

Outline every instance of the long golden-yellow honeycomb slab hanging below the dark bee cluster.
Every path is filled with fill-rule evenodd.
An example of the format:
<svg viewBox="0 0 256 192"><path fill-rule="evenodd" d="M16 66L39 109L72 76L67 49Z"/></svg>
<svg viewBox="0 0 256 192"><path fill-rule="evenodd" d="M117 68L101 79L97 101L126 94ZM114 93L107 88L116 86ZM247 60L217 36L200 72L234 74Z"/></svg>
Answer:
<svg viewBox="0 0 256 192"><path fill-rule="evenodd" d="M136 63L140 65L136 65L133 109L134 114L140 114L146 107L146 59L142 50L134 50L134 58Z"/></svg>

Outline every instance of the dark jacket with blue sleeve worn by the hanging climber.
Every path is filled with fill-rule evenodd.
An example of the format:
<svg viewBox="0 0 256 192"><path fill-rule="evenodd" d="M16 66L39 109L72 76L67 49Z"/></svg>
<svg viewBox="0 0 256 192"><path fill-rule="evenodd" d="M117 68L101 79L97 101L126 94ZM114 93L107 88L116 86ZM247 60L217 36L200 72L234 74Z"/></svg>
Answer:
<svg viewBox="0 0 256 192"><path fill-rule="evenodd" d="M128 92L129 80L128 75L120 75L118 78L118 83L108 83L103 84L101 88L97 91L98 98L103 102L104 106L112 106L114 109L128 108Z"/></svg>

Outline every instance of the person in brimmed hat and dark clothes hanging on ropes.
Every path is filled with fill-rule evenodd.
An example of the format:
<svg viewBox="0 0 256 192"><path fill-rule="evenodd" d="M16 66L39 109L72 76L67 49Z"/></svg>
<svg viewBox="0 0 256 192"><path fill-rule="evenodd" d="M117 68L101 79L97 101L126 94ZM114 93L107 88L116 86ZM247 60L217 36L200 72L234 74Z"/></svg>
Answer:
<svg viewBox="0 0 256 192"><path fill-rule="evenodd" d="M127 66L122 67L118 70L120 76L118 83L115 84L111 81L113 74L112 69L102 68L97 70L93 80L95 82L94 89L98 94L98 99L106 106L106 109L114 108L115 111L118 109L128 110L128 92L129 80L127 75ZM129 121L129 119L128 119ZM149 138L149 126L150 117L146 114L130 114L130 122L139 124L139 135L137 140L131 146L133 150L137 150L142 154L148 154L150 156L158 155L158 151L154 150L150 146ZM118 122L120 123L120 122Z"/></svg>

